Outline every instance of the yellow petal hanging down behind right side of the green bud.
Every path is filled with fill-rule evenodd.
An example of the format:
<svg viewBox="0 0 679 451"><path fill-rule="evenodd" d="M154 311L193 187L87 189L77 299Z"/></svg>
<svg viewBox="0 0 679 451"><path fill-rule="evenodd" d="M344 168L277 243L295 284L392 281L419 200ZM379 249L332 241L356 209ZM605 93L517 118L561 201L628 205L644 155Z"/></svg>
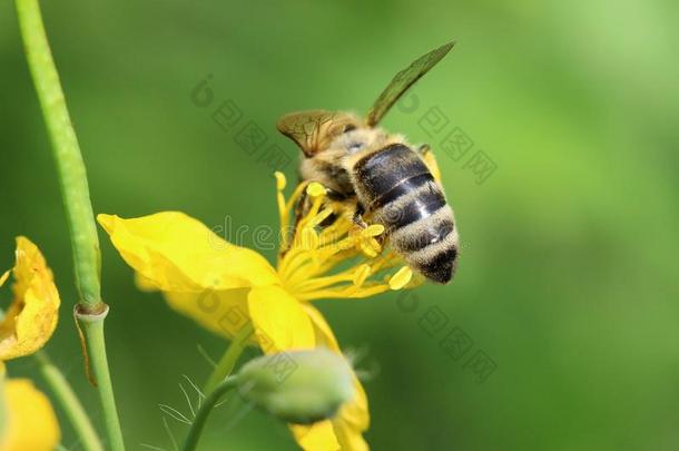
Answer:
<svg viewBox="0 0 679 451"><path fill-rule="evenodd" d="M304 310L314 325L317 345L324 345L337 353L342 353L331 326L321 312L309 304L305 304ZM356 389L354 400L344 404L332 420L333 431L342 451L365 451L368 449L367 443L363 439L363 432L370 427L367 396L355 375L354 386ZM315 450L319 451L323 448L309 449L309 451Z"/></svg>

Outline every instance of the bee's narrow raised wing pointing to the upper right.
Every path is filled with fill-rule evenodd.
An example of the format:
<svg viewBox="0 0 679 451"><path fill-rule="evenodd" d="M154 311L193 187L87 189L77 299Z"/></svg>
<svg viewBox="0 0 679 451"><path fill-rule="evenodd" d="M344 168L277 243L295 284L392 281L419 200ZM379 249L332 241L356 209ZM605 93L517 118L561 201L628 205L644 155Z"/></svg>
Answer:
<svg viewBox="0 0 679 451"><path fill-rule="evenodd" d="M454 45L455 41L441 46L437 49L417 58L409 67L396 73L368 111L367 125L371 127L377 125L377 122L382 120L384 115L386 115L386 112L392 108L396 100L401 98L407 88L413 86L413 84L423 75L429 72L431 68L436 66L436 62L441 61L441 59L445 57Z"/></svg>

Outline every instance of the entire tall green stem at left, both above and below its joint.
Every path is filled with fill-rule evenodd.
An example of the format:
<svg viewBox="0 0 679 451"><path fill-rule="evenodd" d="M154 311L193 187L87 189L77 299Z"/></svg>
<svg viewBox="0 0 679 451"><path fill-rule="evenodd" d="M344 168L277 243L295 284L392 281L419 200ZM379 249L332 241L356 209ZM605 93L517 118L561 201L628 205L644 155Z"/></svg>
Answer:
<svg viewBox="0 0 679 451"><path fill-rule="evenodd" d="M69 224L76 285L79 294L77 317L85 330L87 351L104 410L108 438L114 451L124 450L122 433L111 388L104 318L108 306L101 301L100 253L95 215L89 197L85 163L70 120L59 75L45 32L38 0L16 0L19 28L28 67L33 78L42 116L47 124L59 184Z"/></svg>

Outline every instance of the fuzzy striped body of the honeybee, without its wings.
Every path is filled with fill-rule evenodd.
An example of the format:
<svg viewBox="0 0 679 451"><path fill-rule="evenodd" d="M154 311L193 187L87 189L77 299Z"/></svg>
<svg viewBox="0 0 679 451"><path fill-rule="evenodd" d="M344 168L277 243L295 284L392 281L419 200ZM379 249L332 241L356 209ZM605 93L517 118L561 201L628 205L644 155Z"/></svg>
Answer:
<svg viewBox="0 0 679 451"><path fill-rule="evenodd" d="M301 176L331 188L337 200L356 199L362 216L385 227L391 247L413 269L437 283L452 278L457 257L453 212L403 137L352 127L327 149L304 157Z"/></svg>

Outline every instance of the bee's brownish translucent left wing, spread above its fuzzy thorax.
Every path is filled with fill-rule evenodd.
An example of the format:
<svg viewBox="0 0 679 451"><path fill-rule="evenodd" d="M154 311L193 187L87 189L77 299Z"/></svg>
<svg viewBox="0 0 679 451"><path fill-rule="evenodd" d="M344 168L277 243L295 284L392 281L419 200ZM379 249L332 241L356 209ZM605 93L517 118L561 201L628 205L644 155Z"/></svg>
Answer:
<svg viewBox="0 0 679 451"><path fill-rule="evenodd" d="M348 112L309 110L285 115L276 128L294 140L306 157L327 149L331 143L345 133L365 127Z"/></svg>

